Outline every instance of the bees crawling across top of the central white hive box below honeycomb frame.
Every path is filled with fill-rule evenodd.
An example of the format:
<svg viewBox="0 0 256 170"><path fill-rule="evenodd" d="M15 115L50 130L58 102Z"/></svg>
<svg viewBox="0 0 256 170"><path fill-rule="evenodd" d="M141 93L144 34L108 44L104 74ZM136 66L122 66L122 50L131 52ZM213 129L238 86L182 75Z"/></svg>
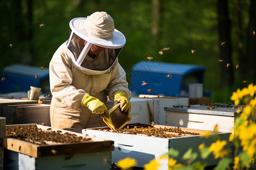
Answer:
<svg viewBox="0 0 256 170"><path fill-rule="evenodd" d="M112 131L115 133L134 134L134 135L147 135L148 137L159 137L159 138L181 137L182 135L200 135L199 133L193 133L191 131L183 131L179 127L154 128L153 123L152 125L148 125L148 126L127 125L126 127L123 127L121 130L118 130L118 131L106 130L106 129L98 129L98 130Z"/></svg>

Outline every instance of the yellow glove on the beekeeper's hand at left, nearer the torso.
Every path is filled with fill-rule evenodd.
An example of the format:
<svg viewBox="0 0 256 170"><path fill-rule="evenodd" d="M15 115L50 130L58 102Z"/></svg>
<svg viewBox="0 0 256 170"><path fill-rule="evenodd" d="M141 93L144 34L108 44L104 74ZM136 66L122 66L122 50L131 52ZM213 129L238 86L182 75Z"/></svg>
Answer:
<svg viewBox="0 0 256 170"><path fill-rule="evenodd" d="M88 107L92 111L92 113L102 114L106 113L109 114L108 109L106 108L105 104L98 100L96 97L92 97L89 94L86 94L82 99L81 104L83 106Z"/></svg>

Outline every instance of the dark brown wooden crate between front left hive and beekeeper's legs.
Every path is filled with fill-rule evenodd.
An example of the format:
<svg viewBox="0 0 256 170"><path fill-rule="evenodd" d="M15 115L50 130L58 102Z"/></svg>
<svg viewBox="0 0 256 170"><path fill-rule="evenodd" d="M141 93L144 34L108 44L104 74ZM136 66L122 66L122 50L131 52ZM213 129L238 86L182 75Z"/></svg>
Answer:
<svg viewBox="0 0 256 170"><path fill-rule="evenodd" d="M22 104L3 106L3 117L6 125L44 124L51 126L50 104Z"/></svg>

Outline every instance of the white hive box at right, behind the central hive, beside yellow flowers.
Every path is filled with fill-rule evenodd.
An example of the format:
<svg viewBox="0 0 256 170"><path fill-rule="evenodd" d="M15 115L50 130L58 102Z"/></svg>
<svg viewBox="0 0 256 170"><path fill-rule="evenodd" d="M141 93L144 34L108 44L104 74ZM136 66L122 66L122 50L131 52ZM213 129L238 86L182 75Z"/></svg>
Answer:
<svg viewBox="0 0 256 170"><path fill-rule="evenodd" d="M201 130L213 130L218 125L219 131L233 132L236 109L207 107L208 105L191 105L190 108L166 107L166 125Z"/></svg>

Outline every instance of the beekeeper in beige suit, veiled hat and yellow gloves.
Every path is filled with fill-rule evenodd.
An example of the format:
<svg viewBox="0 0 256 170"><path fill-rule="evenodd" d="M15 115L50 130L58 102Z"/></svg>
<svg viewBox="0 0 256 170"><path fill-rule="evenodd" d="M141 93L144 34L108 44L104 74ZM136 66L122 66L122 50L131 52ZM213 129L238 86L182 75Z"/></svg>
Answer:
<svg viewBox="0 0 256 170"><path fill-rule="evenodd" d="M108 114L106 91L122 111L130 112L131 92L117 58L126 39L106 12L72 19L69 28L69 39L49 63L51 126L81 133L106 126L101 116Z"/></svg>

